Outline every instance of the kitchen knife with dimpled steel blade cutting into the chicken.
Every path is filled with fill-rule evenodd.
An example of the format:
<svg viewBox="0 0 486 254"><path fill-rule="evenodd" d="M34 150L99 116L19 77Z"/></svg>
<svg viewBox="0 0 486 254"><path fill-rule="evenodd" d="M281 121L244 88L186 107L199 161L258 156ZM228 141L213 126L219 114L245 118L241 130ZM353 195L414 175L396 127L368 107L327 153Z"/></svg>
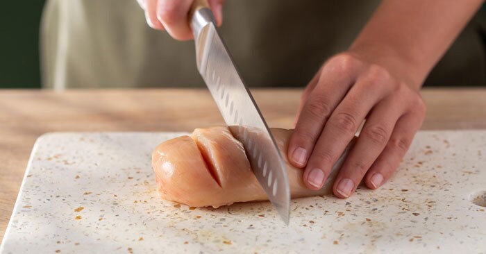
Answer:
<svg viewBox="0 0 486 254"><path fill-rule="evenodd" d="M288 225L290 187L282 155L221 40L207 0L192 3L189 22L196 43L199 73L231 133L242 142L255 177Z"/></svg>

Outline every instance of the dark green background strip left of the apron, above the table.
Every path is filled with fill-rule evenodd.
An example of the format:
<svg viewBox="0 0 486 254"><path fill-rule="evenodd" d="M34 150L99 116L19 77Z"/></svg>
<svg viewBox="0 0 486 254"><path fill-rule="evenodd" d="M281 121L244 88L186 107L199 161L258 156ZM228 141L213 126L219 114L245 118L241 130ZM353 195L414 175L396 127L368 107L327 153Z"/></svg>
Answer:
<svg viewBox="0 0 486 254"><path fill-rule="evenodd" d="M40 87L38 42L43 6L44 0L2 1L0 88Z"/></svg>

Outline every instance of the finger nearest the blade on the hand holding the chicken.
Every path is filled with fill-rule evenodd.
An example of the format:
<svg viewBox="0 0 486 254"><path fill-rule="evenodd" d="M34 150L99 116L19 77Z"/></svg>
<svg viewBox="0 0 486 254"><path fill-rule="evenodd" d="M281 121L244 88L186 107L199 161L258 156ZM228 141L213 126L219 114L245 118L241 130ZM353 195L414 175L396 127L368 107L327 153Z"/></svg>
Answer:
<svg viewBox="0 0 486 254"><path fill-rule="evenodd" d="M295 167L305 167L326 120L354 83L360 63L342 55L324 65L317 85L303 105L287 157Z"/></svg>

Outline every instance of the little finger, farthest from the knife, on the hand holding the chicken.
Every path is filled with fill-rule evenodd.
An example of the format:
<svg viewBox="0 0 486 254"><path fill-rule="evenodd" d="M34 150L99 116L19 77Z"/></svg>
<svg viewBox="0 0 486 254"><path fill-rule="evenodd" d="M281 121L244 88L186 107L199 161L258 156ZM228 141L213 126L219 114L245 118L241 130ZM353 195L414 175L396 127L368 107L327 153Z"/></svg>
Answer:
<svg viewBox="0 0 486 254"><path fill-rule="evenodd" d="M370 189L377 189L385 183L399 167L400 161L407 153L413 137L422 125L425 115L425 105L419 105L417 110L403 115L396 122L387 145L364 177L364 183Z"/></svg>

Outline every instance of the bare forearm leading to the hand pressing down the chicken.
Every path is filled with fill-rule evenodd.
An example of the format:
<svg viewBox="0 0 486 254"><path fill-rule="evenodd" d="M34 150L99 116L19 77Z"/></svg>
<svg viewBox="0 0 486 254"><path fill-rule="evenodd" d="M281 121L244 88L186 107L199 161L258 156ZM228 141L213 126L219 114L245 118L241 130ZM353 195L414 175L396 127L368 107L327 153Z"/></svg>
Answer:
<svg viewBox="0 0 486 254"><path fill-rule="evenodd" d="M481 3L383 0L350 51L373 56L418 89Z"/></svg>

